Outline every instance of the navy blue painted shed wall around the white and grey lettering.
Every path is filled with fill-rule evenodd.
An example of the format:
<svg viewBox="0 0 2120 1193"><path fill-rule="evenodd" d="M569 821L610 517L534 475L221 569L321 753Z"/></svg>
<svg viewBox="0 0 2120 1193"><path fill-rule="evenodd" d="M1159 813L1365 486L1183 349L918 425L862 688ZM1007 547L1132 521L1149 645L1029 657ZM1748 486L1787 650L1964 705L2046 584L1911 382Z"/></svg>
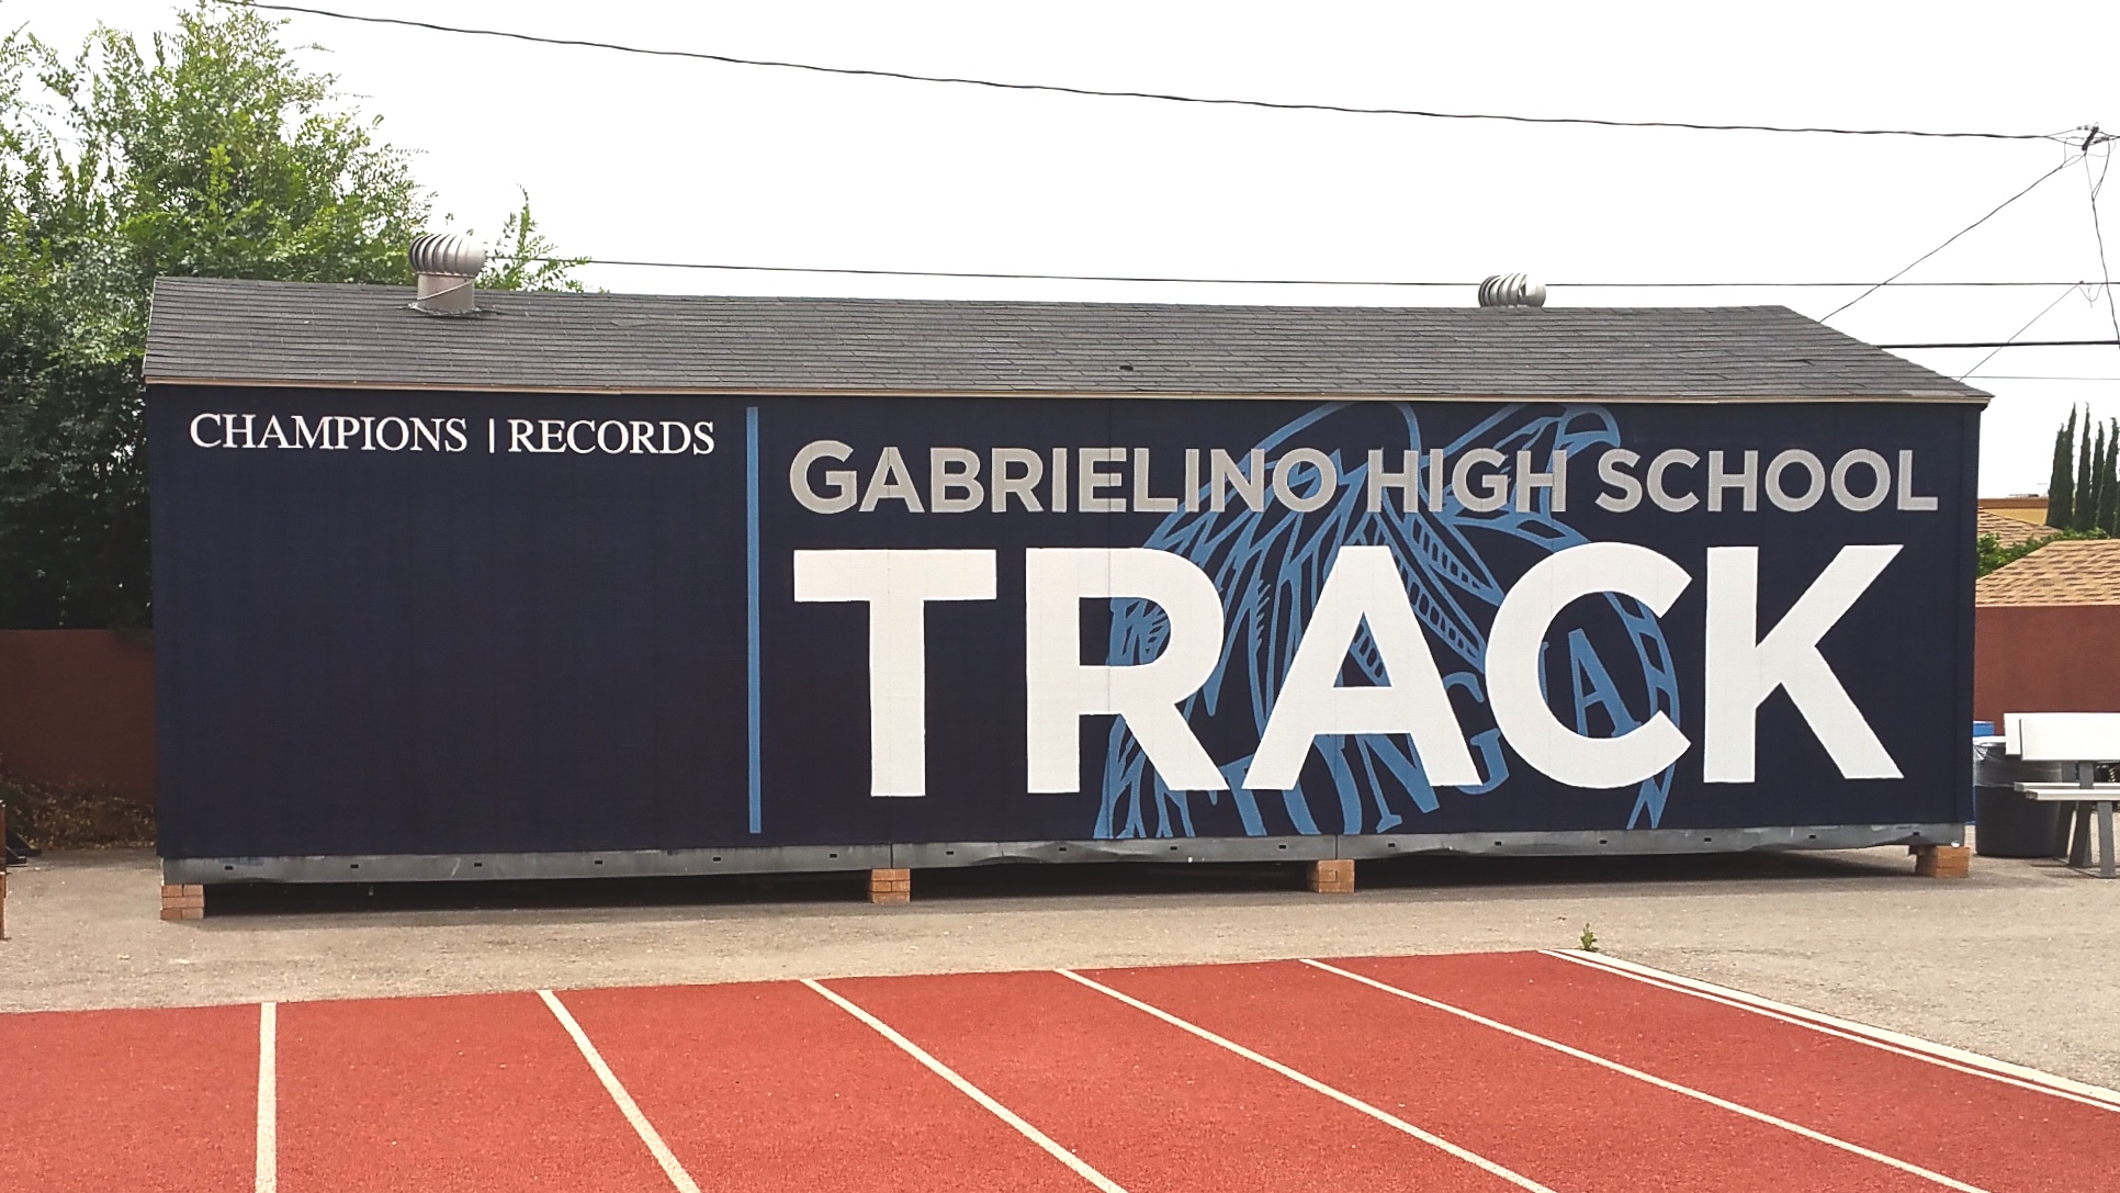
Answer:
<svg viewBox="0 0 2120 1193"><path fill-rule="evenodd" d="M1974 407L159 388L148 413L163 856L1885 824L1967 812ZM312 437L318 415L352 422L335 424L343 449L314 439L227 447L231 422L220 415L235 415L252 441L273 417L284 437L293 415ZM462 449L426 441L392 451L390 428L375 445L392 415L437 430L447 424L432 420L462 420ZM509 420L534 428L517 447L549 443L538 420L566 420L577 445L596 432L585 439L579 420L604 424L606 443L611 422L644 422L661 434L653 447L674 443L666 422L687 432L710 422L714 449L509 451ZM820 439L844 441L852 460L818 464L812 479L846 466L867 485L878 451L895 445L922 496L935 445L982 460L992 447L1047 458L1054 447L1147 447L1158 496L1181 489L1187 447L1242 458L1268 445L1268 460L1317 447L1336 460L1348 502L1310 515L1278 504L1255 515L1238 500L1225 515L912 513L899 500L812 513L791 494L789 464ZM1370 449L1397 466L1403 449L1446 447L1454 460L1482 445L1533 449L1539 466L1569 447L1567 509L1355 509ZM1938 498L1938 509L1885 500L1851 513L1827 496L1802 513L1760 498L1745 513L1732 492L1719 513L1649 502L1609 513L1594 498L1605 492L1596 462L1611 447L1643 462L1666 447L1721 449L1732 462L1747 449L1770 460L1804 447L1827 464L1857 447L1893 462L1914 451L1910 492ZM1702 468L1673 473L1677 487L1698 492ZM1128 481L1113 496L1130 492ZM1230 547L1232 536L1251 547ZM1548 638L1550 704L1565 723L1579 716L1590 735L1611 733L1611 701L1596 699L1605 693L1632 720L1664 710L1694 740L1671 771L1618 790L1560 786L1524 765L1495 733L1480 691L1478 644L1495 600L1537 559L1586 540L1639 542L1694 576L1649 638L1630 634L1611 600L1575 602ZM1109 716L1083 720L1081 793L1024 790L1026 547L1189 555L1217 576L1232 625L1278 627L1287 644L1333 551L1350 542L1382 542L1399 557L1484 790L1429 786L1403 737L1323 737L1295 793L1172 795L1141 778L1138 750ZM1764 634L1842 545L1872 542L1904 551L1821 648L1904 778L1842 778L1777 693L1757 714L1755 782L1702 784L1707 551L1760 547ZM869 795L867 606L793 600L793 551L878 547L999 553L996 600L926 608L929 793L918 799ZM1247 576L1257 581L1249 598L1238 593ZM1083 642L1100 655L1085 661L1141 661L1160 615L1111 604L1085 602ZM1270 695L1287 661L1274 651L1238 642L1215 691L1187 708L1219 765L1242 761L1259 740L1270 699L1255 693ZM1342 682L1380 682L1365 659L1357 651Z"/></svg>

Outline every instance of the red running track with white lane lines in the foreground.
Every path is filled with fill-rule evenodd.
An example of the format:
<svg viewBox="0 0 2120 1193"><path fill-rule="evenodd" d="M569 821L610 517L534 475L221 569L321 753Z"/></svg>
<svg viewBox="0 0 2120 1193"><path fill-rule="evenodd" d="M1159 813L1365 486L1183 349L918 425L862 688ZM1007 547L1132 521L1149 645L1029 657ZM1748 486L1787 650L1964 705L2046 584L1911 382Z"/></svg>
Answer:
<svg viewBox="0 0 2120 1193"><path fill-rule="evenodd" d="M0 1015L0 1057L8 1191L2120 1193L2112 1091L1579 954Z"/></svg>

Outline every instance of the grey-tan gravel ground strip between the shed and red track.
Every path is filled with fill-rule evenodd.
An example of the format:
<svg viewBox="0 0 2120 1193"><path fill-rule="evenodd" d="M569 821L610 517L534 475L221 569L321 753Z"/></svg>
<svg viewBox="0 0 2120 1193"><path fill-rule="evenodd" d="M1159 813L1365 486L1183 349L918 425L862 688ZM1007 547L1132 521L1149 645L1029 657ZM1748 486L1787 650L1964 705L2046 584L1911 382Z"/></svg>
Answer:
<svg viewBox="0 0 2120 1193"><path fill-rule="evenodd" d="M11 871L0 1011L373 998L1293 956L1573 947L2120 1087L2120 882L1906 850L920 871L409 888L212 888L163 924L151 854Z"/></svg>

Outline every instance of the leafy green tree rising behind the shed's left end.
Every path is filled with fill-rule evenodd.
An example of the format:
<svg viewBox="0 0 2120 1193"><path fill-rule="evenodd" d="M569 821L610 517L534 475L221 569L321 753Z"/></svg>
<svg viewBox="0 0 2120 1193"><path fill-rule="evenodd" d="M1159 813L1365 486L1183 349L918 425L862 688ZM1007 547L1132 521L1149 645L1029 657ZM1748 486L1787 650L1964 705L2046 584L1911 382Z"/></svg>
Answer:
<svg viewBox="0 0 2120 1193"><path fill-rule="evenodd" d="M428 195L303 70L210 4L142 47L0 40L0 625L148 621L140 379L157 275L409 284ZM524 208L509 248L555 256ZM566 288L568 261L494 284Z"/></svg>

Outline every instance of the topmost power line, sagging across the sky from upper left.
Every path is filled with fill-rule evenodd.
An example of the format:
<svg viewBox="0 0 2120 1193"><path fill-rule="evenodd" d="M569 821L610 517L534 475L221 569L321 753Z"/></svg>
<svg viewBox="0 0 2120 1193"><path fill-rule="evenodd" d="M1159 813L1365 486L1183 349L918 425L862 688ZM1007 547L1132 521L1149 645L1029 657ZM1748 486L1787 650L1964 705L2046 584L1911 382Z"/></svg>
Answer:
<svg viewBox="0 0 2120 1193"><path fill-rule="evenodd" d="M1685 129L1685 131L1717 131L1717 133L1832 133L1832 136L1874 136L1874 138L1944 138L1944 140L2067 140L2075 144L2075 133L2082 129L2069 129L2067 133L1995 133L1995 131L1942 131L1942 129L1844 129L1844 127L1817 127L1817 125L1709 125L1694 121L1611 121L1594 117L1520 117L1507 112L1433 112L1420 108L1359 108L1350 104L1295 104L1278 100L1240 100L1227 95L1179 95L1166 91L1121 91L1102 87L1071 87L1060 83L1005 83L996 78L967 78L954 74L914 74L907 70L876 70L861 66L820 66L812 61L780 61L765 57L736 57L727 53L706 53L689 49L653 49L636 47L623 42L604 42L591 38L551 38L543 34L524 34L517 30L488 30L477 25L443 25L437 21L413 21L405 17L373 17L363 13L335 13L331 8L312 8L307 4L267 4L261 0L216 0L220 4L231 4L237 8L259 8L267 13L301 13L305 17L326 17L333 21L360 21L369 25L399 25L407 30L428 30L437 34L464 34L479 38L507 38L517 42L549 44L549 47L575 47L575 49L602 49L613 53L636 53L649 57L683 57L693 61L719 61L723 66L761 66L774 70L808 70L812 74L844 74L854 78L893 78L901 83L946 83L952 87L988 87L996 91L1043 91L1052 95L1088 95L1096 100L1158 100L1166 104L1213 104L1230 108L1270 108L1278 112L1340 112L1353 117L1420 117L1429 121L1507 121L1518 125L1592 125L1607 129ZM2090 131L2086 144L2092 140L2109 140L2109 133Z"/></svg>

